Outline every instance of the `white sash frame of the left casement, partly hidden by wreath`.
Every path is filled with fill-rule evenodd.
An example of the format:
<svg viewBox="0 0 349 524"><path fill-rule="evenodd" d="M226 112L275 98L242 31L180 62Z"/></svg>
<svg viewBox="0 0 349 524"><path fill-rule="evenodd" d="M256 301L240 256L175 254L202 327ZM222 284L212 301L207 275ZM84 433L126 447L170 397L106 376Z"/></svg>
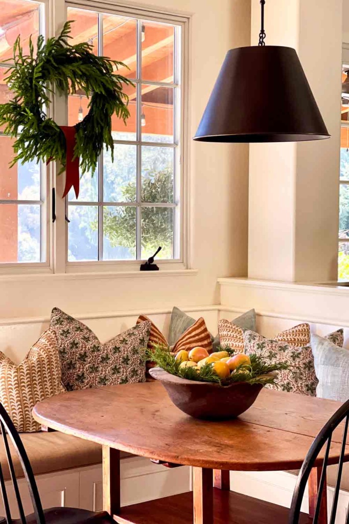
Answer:
<svg viewBox="0 0 349 524"><path fill-rule="evenodd" d="M30 2L30 0L28 0ZM49 2L48 0L35 0L35 3L39 3L43 8L40 8L39 12L39 33L43 34L46 38L49 30ZM41 6L40 6L41 7ZM3 65L2 65L3 68ZM0 137L7 136L0 131ZM0 138L1 139L1 138ZM50 213L51 209L51 198L50 198L50 183L49 183L49 168L41 163L40 165L40 200L0 200L1 205L10 204L26 204L26 205L37 205L40 204L40 245L41 245L41 258L44 259L42 262L1 262L0 263L0 275L1 274L21 274L23 272L42 272L50 270L51 263L51 249L50 249Z"/></svg>

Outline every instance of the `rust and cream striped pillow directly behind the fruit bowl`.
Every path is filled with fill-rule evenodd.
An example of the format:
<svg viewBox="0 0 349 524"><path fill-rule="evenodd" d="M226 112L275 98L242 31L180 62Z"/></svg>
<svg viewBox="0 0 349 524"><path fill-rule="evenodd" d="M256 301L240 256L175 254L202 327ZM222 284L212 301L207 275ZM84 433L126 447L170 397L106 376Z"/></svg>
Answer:
<svg viewBox="0 0 349 524"><path fill-rule="evenodd" d="M150 350L152 350L154 344L169 347L164 335L156 328L156 325L148 318L148 316L140 315L137 324L139 325L142 322L151 323L148 343L148 348ZM202 316L193 325L189 326L189 328L179 337L174 346L171 347L171 351L173 353L178 353L178 351L181 350L190 351L195 346L205 347L209 353L212 351L211 335Z"/></svg>

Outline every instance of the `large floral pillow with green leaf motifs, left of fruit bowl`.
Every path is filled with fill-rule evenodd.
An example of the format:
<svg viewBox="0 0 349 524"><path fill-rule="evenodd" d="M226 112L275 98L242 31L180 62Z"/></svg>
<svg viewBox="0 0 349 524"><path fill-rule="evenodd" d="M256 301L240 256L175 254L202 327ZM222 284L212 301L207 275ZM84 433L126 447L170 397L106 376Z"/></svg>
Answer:
<svg viewBox="0 0 349 524"><path fill-rule="evenodd" d="M62 381L67 390L145 381L144 348L150 322L101 344L85 324L58 308L51 314L58 340Z"/></svg>

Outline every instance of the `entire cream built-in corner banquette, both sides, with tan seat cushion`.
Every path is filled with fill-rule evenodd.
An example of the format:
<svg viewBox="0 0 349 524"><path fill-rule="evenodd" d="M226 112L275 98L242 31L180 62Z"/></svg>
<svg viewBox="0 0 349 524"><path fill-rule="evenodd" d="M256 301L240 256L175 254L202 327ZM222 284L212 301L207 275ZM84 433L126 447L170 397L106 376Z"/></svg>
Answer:
<svg viewBox="0 0 349 524"><path fill-rule="evenodd" d="M241 308L236 305L217 305L185 309L199 318L204 316L208 329L216 334L218 320L232 320L243 311L253 307L248 304ZM150 316L164 334L168 332L171 310L142 311ZM74 313L74 312L73 312ZM110 313L99 315L78 316L85 322L101 341L109 340L115 334L125 331L134 325L138 312ZM307 321L307 318L297 318L293 315L274 313L258 314L256 330L267 337ZM48 327L49 319L18 319L12 322L0 322L0 350L15 362L25 357L28 349L40 334ZM323 336L342 324L329 322L310 323L311 331ZM345 346L348 347L349 329L344 330ZM37 483L43 505L74 506L98 510L102 507L102 452L98 445L76 439L59 432L39 432L21 434L22 440L36 474ZM0 461L3 460L3 449L0 446ZM19 472L18 461L15 462ZM331 468L330 468L331 469ZM254 496L276 504L289 506L295 487L295 472L231 472L231 489L238 493ZM331 500L335 482L335 468L332 468L328 478L328 496ZM8 471L5 477L8 479ZM24 486L24 482L20 486ZM157 466L148 459L123 455L121 461L121 498L123 504L133 504L160 496L183 493L190 489L190 471L187 467L168 470ZM27 498L26 498L27 496ZM29 497L25 495L30 510ZM349 465L345 466L342 490L340 495L340 515L346 514L349 505ZM307 499L303 510L307 509ZM1 514L1 511L0 511ZM343 517L344 518L344 517Z"/></svg>

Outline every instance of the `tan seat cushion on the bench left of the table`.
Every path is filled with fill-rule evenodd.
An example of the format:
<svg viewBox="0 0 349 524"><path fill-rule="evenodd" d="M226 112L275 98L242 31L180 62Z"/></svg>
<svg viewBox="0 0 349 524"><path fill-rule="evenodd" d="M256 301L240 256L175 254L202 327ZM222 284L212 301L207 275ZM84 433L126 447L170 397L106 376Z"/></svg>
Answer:
<svg viewBox="0 0 349 524"><path fill-rule="evenodd" d="M69 470L74 467L89 466L102 462L102 446L76 436L58 431L39 433L21 433L20 438L28 454L35 475ZM11 451L17 477L23 472L12 444ZM122 453L122 457L130 456ZM4 443L1 438L0 462L5 480L10 478Z"/></svg>

